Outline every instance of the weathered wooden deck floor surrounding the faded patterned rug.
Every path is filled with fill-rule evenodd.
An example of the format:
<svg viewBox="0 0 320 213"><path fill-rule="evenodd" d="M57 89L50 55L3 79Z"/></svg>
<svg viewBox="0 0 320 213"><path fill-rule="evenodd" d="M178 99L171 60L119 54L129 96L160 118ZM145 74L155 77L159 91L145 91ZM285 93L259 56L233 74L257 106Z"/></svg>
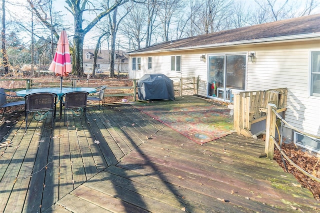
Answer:
<svg viewBox="0 0 320 213"><path fill-rule="evenodd" d="M183 101L207 100L173 103ZM129 104L88 107L87 121L68 116L67 126L32 120L25 133L23 119L6 124L0 212L320 212L292 175L259 158L259 140L200 146Z"/></svg>

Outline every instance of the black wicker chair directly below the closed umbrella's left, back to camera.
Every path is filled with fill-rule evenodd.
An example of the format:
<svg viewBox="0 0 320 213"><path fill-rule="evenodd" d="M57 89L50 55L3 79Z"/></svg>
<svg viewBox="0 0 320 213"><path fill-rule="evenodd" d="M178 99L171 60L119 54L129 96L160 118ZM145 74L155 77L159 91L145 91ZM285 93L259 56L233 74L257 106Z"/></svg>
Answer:
<svg viewBox="0 0 320 213"><path fill-rule="evenodd" d="M34 113L37 121L44 119L52 111L52 127L55 118L56 94L49 92L32 93L24 96L25 99L25 130L28 125L28 113ZM36 116L39 116L38 118Z"/></svg>

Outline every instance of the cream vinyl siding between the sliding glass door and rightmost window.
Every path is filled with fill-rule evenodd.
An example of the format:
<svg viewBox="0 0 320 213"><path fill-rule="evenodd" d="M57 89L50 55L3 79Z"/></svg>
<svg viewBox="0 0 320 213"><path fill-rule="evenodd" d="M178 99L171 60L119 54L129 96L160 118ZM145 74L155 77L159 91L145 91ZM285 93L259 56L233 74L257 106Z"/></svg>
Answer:
<svg viewBox="0 0 320 213"><path fill-rule="evenodd" d="M310 97L310 49L287 46L256 51L256 61L248 62L247 90L288 89L285 120L311 134L320 134L320 98Z"/></svg>

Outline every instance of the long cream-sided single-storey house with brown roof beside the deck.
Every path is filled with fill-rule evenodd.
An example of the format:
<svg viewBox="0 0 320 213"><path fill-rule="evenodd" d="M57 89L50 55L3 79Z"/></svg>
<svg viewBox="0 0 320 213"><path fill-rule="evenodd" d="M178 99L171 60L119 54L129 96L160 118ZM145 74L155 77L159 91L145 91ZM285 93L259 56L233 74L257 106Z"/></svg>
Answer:
<svg viewBox="0 0 320 213"><path fill-rule="evenodd" d="M230 90L286 87L285 120L320 135L320 14L168 41L127 54L130 79L145 73L196 77L198 95L208 98L230 101ZM285 133L320 150L319 141L287 128Z"/></svg>

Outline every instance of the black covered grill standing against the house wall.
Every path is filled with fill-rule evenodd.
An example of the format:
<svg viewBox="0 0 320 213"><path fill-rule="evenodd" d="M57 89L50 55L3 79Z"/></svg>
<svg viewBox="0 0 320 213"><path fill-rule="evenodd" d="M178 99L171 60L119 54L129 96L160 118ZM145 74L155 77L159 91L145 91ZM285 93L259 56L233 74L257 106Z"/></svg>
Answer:
<svg viewBox="0 0 320 213"><path fill-rule="evenodd" d="M137 80L140 100L174 100L173 81L163 74L145 74Z"/></svg>

